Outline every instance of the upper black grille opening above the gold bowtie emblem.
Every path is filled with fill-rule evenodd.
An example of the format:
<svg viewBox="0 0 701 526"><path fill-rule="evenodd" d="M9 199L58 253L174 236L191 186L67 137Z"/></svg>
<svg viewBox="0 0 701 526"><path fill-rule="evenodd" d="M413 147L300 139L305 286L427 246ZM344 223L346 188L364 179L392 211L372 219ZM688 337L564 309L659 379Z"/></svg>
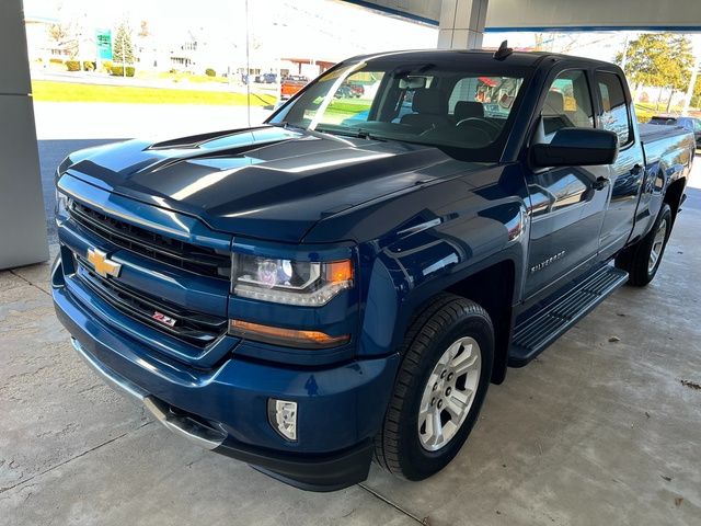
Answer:
<svg viewBox="0 0 701 526"><path fill-rule="evenodd" d="M151 232L74 201L70 214L81 227L131 252L195 274L229 279L230 254Z"/></svg>

